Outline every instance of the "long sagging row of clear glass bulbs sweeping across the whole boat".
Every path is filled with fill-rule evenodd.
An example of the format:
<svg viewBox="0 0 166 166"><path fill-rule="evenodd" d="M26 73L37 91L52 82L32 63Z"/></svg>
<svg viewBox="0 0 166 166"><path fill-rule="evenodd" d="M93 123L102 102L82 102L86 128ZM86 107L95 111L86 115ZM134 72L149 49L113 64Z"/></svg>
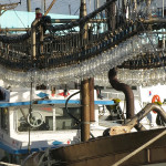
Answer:
<svg viewBox="0 0 166 166"><path fill-rule="evenodd" d="M116 68L124 61L133 59L142 51L146 51L147 48L149 50L153 50L154 46L157 48L155 38L155 35L149 34L148 40L152 42L154 41L152 46L152 43L147 40L145 41L143 35L142 38L135 35L112 48L111 50L101 53L101 55L84 61L80 64L58 69L39 71L32 69L29 72L17 72L8 70L1 65L0 77L6 82L6 84L25 87L29 87L31 82L33 85L61 85L69 84L71 82L79 83L89 77L95 77L95 84L100 84L100 82L102 83L102 81L98 81L101 80L101 75L104 75L104 73L110 69ZM105 80L104 77L106 76L103 76L103 80ZM106 83L108 83L108 81L104 81L104 84Z"/></svg>

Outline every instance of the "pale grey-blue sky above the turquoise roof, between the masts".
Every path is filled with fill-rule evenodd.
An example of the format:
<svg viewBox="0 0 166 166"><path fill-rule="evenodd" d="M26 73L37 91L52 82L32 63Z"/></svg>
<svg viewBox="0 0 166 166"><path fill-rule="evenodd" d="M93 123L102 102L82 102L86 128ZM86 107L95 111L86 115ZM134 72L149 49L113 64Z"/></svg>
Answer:
<svg viewBox="0 0 166 166"><path fill-rule="evenodd" d="M0 3L12 3L12 2L19 2L20 0L0 0ZM42 1L44 0L31 0L31 10L35 11L35 8L42 8ZM106 0L98 0L102 4ZM162 7L163 0L155 0L157 2L157 7ZM165 6L166 6L166 0ZM52 0L45 0L46 2L46 9L52 2ZM94 0L86 0L87 4L87 12L91 12L94 10ZM56 0L54 6L52 7L51 11L52 13L60 13L60 14L79 14L79 8L80 8L80 0ZM19 4L15 10L27 10L27 0L21 0L21 4Z"/></svg>

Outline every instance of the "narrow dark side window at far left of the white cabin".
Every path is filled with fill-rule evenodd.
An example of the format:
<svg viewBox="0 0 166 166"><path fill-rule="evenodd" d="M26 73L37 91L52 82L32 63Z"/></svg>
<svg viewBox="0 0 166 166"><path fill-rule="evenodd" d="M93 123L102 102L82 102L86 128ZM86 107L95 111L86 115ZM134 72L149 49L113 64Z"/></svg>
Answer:
<svg viewBox="0 0 166 166"><path fill-rule="evenodd" d="M0 116L1 116L1 128L3 131L8 132L8 123L9 123L9 111L7 107L1 107L0 108Z"/></svg>

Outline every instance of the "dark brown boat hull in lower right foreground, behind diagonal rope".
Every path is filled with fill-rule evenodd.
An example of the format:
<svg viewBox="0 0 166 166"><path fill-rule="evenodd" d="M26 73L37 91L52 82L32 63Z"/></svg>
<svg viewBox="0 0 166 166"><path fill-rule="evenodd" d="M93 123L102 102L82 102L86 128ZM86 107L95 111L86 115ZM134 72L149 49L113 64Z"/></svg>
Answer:
<svg viewBox="0 0 166 166"><path fill-rule="evenodd" d="M61 166L111 166L155 138L165 128L98 137L85 143L52 149L50 156ZM146 165L166 162L166 135L145 146L121 165Z"/></svg>

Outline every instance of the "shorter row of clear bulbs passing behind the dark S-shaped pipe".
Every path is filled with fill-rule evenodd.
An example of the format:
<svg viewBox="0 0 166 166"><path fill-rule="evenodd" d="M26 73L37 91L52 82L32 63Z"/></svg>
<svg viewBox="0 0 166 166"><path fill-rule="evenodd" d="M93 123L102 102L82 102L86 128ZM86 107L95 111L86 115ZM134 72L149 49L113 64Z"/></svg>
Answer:
<svg viewBox="0 0 166 166"><path fill-rule="evenodd" d="M148 69L148 70L128 70L117 69L117 80L127 85L135 86L153 86L164 85L166 82L166 69ZM94 77L95 84L98 86L110 86L107 72Z"/></svg>

